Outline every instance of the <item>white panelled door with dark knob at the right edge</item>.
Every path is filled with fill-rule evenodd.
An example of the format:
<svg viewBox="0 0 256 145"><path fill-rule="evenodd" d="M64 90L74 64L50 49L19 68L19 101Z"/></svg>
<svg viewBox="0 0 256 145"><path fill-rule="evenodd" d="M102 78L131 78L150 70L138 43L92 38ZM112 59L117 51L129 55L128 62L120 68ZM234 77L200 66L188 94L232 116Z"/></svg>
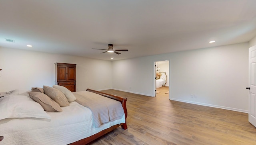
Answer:
<svg viewBox="0 0 256 145"><path fill-rule="evenodd" d="M249 48L249 122L256 127L256 45Z"/></svg>

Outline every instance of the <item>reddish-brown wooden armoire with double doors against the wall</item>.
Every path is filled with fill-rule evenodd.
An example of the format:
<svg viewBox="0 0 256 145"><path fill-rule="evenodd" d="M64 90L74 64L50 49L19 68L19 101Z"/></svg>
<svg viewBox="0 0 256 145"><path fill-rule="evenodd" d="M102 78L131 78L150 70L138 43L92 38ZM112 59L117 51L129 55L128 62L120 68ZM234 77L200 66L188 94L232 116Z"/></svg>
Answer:
<svg viewBox="0 0 256 145"><path fill-rule="evenodd" d="M55 63L55 84L76 92L76 64Z"/></svg>

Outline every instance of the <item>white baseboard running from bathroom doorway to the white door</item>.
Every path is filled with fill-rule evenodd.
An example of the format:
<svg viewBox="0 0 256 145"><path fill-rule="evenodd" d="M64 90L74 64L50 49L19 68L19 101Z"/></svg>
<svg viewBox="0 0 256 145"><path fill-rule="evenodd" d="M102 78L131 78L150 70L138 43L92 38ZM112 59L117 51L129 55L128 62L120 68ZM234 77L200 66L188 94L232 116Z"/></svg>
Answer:
<svg viewBox="0 0 256 145"><path fill-rule="evenodd" d="M208 107L220 108L220 109L225 109L225 110L232 110L232 111L237 111L237 112L248 113L248 110L242 110L242 109L237 109L237 108L230 108L230 107L218 106L218 105L212 105L212 104L206 104L206 103L200 103L200 102L192 102L192 101L175 99L175 98L169 98L169 99L174 100L174 101L179 101L179 102L190 103L190 104L196 104L196 105L202 105L202 106L208 106Z"/></svg>

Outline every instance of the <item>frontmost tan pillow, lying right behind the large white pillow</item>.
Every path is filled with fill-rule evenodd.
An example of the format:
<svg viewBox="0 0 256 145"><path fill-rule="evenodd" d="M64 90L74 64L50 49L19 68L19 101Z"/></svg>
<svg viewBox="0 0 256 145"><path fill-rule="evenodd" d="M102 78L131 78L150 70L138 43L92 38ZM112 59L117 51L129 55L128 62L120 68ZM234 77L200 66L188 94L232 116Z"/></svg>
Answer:
<svg viewBox="0 0 256 145"><path fill-rule="evenodd" d="M58 103L56 103L54 100L52 100L46 94L43 94L41 92L28 92L28 94L29 94L30 98L32 98L34 101L38 102L42 106L42 108L44 108L45 111L62 112L60 105Z"/></svg>

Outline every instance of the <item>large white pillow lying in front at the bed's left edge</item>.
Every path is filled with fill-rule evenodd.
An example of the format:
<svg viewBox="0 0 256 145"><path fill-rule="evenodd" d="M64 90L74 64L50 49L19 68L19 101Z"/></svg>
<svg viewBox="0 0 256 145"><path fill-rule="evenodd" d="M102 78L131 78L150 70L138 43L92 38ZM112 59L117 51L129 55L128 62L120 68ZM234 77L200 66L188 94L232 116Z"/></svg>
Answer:
<svg viewBox="0 0 256 145"><path fill-rule="evenodd" d="M0 98L0 120L5 118L47 118L44 108L28 96L4 96Z"/></svg>

